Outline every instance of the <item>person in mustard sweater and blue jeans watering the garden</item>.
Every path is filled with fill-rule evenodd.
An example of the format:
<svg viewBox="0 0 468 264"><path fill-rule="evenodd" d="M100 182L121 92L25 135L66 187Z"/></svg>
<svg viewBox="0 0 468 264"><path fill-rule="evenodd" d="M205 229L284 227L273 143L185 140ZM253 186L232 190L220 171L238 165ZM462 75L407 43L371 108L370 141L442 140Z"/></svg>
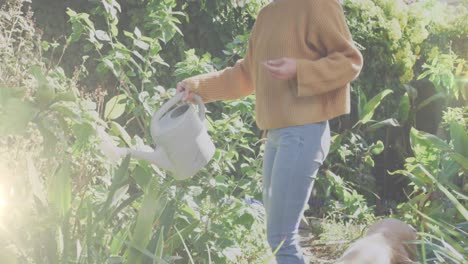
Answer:
<svg viewBox="0 0 468 264"><path fill-rule="evenodd" d="M305 263L298 227L330 146L328 120L350 111L349 82L362 67L338 0L276 0L252 29L244 59L186 79L177 91L204 102L256 94L268 131L263 164L267 237L280 264Z"/></svg>

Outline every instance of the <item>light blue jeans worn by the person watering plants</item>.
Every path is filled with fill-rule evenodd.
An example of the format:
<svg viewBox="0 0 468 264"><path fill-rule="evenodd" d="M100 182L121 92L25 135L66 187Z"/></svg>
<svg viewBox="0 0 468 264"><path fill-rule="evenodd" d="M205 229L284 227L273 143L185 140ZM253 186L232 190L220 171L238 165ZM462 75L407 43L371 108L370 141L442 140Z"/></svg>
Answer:
<svg viewBox="0 0 468 264"><path fill-rule="evenodd" d="M328 122L268 131L263 161L267 237L278 264L305 263L299 223L315 176L330 149Z"/></svg>

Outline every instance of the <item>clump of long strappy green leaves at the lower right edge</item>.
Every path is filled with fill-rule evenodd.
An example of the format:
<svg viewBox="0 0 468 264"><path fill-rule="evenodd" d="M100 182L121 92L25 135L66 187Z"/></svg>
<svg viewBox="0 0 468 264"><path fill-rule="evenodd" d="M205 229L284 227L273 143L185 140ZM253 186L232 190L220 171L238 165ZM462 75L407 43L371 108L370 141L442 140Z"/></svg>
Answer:
<svg viewBox="0 0 468 264"><path fill-rule="evenodd" d="M409 200L399 206L407 221L420 227L421 260L461 263L466 256L466 123L451 122L450 142L413 129L414 157L401 173L411 179Z"/></svg>

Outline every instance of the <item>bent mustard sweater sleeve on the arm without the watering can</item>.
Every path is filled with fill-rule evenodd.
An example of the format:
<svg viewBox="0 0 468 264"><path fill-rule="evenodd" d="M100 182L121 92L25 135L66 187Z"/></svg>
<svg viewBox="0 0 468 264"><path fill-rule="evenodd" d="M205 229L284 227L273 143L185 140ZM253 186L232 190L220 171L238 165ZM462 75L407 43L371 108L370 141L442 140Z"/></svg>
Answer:
<svg viewBox="0 0 468 264"><path fill-rule="evenodd" d="M339 1L309 3L307 44L322 58L297 60L298 96L314 96L345 87L359 75L363 63Z"/></svg>

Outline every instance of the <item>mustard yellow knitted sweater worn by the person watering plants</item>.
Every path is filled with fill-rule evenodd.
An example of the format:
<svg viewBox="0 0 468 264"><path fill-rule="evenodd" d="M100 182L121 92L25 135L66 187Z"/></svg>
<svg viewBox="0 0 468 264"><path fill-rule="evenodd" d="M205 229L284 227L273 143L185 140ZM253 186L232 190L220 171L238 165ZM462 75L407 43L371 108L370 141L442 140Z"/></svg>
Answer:
<svg viewBox="0 0 468 264"><path fill-rule="evenodd" d="M296 78L275 79L263 65L282 57L296 59ZM260 11L244 59L184 82L205 102L255 93L257 125L273 129L349 113L362 63L338 0L276 0Z"/></svg>

